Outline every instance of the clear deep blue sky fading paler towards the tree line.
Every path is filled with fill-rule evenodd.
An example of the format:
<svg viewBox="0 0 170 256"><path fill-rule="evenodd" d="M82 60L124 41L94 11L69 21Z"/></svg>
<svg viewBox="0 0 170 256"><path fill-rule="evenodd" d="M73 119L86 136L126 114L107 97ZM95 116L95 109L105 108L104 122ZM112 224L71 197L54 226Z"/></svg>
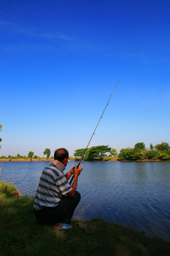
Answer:
<svg viewBox="0 0 170 256"><path fill-rule="evenodd" d="M0 156L170 143L169 1L0 1Z"/></svg>

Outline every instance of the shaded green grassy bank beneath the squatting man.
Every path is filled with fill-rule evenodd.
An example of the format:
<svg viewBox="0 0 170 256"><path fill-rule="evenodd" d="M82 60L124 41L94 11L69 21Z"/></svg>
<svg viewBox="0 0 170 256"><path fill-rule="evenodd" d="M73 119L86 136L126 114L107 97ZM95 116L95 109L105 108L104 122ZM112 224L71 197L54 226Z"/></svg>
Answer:
<svg viewBox="0 0 170 256"><path fill-rule="evenodd" d="M169 241L149 238L143 232L100 218L81 221L86 230L74 220L72 229L53 231L38 223L33 201L33 197L19 196L13 185L0 182L1 256L169 255Z"/></svg>

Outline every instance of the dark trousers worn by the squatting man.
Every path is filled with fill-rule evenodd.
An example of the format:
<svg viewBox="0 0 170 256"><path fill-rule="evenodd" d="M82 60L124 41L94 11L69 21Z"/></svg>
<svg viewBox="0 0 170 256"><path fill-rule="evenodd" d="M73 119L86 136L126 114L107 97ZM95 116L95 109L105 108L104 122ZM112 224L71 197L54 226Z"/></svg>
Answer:
<svg viewBox="0 0 170 256"><path fill-rule="evenodd" d="M81 195L76 191L73 198L65 196L55 207L45 207L41 210L34 210L35 217L42 223L54 224L67 223L70 224L73 213L80 202Z"/></svg>

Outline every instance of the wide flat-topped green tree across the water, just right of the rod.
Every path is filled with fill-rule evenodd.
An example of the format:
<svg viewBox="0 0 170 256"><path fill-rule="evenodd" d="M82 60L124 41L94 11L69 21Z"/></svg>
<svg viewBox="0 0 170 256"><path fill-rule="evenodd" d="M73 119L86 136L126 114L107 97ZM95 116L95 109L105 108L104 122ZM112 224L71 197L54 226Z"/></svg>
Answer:
<svg viewBox="0 0 170 256"><path fill-rule="evenodd" d="M102 160L105 156L107 156L105 153L110 152L112 148L108 148L107 146L96 146L96 147L91 147L87 151L87 154L85 156L85 160L92 160L94 158L99 157L100 160Z"/></svg>

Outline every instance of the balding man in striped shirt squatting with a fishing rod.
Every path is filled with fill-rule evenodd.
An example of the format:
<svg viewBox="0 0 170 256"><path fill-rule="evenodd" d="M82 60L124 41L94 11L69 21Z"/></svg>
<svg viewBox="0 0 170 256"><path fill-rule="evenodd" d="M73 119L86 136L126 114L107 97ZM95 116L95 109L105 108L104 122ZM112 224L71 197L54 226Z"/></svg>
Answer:
<svg viewBox="0 0 170 256"><path fill-rule="evenodd" d="M40 178L35 194L34 214L41 223L52 224L53 229L72 228L70 221L80 201L80 193L76 191L78 175L81 172L79 165L71 168L64 175L68 164L69 152L65 148L58 148L54 153L54 162L46 167ZM68 181L74 173L72 185Z"/></svg>

